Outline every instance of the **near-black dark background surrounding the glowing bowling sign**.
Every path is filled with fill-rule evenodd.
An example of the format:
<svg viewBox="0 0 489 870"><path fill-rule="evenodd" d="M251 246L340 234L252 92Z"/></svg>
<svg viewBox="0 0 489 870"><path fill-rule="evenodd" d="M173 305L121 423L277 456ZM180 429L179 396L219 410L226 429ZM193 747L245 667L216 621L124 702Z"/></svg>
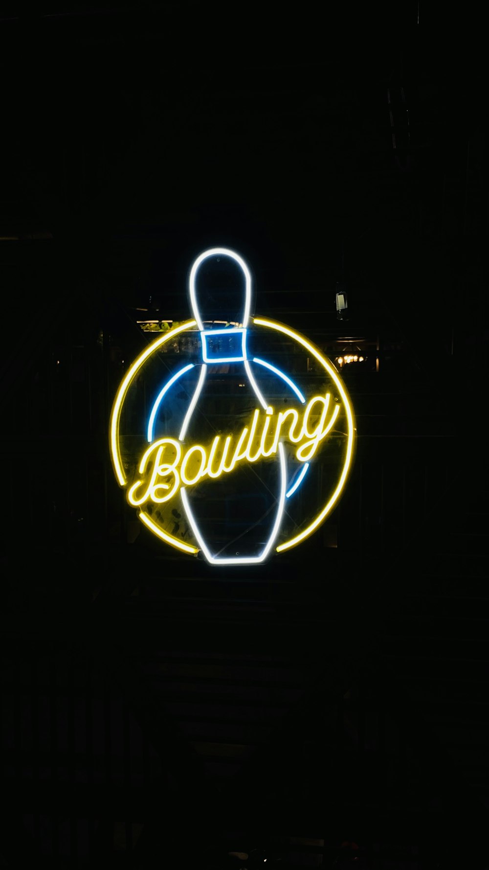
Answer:
<svg viewBox="0 0 489 870"><path fill-rule="evenodd" d="M489 867L482 30L3 7L0 867ZM108 452L137 320L187 318L214 244L367 353L344 498L236 572L146 533Z"/></svg>

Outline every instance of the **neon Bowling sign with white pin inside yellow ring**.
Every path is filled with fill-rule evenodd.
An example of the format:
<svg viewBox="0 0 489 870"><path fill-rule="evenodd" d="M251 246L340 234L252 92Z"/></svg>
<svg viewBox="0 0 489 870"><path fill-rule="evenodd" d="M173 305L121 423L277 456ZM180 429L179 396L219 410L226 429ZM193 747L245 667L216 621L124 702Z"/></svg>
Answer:
<svg viewBox="0 0 489 870"><path fill-rule="evenodd" d="M119 385L112 465L166 544L212 565L258 564L337 505L352 467L352 404L318 347L251 316L251 272L235 251L200 254L189 298L194 318L146 347Z"/></svg>

